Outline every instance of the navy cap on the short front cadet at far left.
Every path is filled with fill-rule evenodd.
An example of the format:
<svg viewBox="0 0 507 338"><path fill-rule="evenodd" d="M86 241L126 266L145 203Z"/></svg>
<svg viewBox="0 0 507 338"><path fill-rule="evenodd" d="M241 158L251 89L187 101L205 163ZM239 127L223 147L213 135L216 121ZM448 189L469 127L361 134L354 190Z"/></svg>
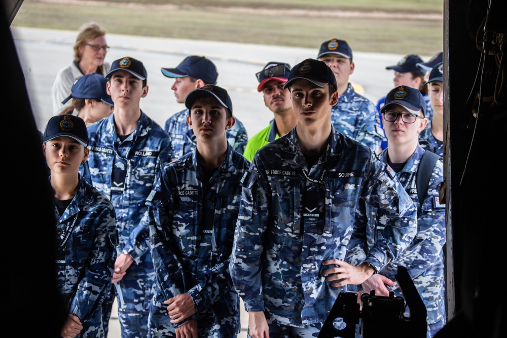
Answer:
<svg viewBox="0 0 507 338"><path fill-rule="evenodd" d="M60 136L72 137L84 147L88 145L88 131L85 121L71 114L57 115L49 119L46 130L44 130L43 142L46 143Z"/></svg>

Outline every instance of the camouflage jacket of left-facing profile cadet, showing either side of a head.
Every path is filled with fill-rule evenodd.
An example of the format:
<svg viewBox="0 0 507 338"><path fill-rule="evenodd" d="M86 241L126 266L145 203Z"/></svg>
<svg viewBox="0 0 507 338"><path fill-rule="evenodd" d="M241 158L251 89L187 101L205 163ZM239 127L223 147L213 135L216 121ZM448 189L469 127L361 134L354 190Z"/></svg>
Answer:
<svg viewBox="0 0 507 338"><path fill-rule="evenodd" d="M171 136L174 159L179 159L183 155L190 153L197 144L194 132L187 123L187 116L189 116L189 109L184 109L171 116L165 122L164 130ZM236 152L242 155L245 151L248 136L241 121L236 117L235 119L236 123L234 126L226 131L227 141L236 149Z"/></svg>

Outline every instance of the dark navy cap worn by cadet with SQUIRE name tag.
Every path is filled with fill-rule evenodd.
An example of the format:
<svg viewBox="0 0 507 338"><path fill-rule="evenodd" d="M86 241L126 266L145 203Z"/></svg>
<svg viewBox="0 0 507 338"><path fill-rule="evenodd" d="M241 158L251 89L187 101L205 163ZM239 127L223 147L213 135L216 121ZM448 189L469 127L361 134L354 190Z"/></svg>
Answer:
<svg viewBox="0 0 507 338"><path fill-rule="evenodd" d="M308 80L319 87L330 84L335 86L335 89L338 88L333 70L324 61L316 59L306 59L295 65L291 69L283 88L290 87L290 84L298 79Z"/></svg>

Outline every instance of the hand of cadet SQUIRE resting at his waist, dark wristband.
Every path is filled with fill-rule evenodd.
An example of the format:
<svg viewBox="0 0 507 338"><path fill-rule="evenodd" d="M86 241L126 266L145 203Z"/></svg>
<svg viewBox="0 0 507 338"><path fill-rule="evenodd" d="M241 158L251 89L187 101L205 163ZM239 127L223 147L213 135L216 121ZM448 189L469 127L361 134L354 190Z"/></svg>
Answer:
<svg viewBox="0 0 507 338"><path fill-rule="evenodd" d="M347 284L358 285L369 278L374 270L366 262L361 263L358 267L353 267L347 262L339 259L324 260L322 265L336 264L338 268L333 267L322 270L326 282L332 282L331 286L339 287Z"/></svg>

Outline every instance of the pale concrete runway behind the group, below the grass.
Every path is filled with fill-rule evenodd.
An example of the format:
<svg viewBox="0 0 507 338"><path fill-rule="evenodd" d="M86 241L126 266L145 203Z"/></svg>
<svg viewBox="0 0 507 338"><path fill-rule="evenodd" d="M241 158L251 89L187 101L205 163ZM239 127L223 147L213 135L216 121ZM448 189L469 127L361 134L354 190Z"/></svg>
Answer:
<svg viewBox="0 0 507 338"><path fill-rule="evenodd" d="M77 32L22 27L11 27L11 31L35 121L38 129L44 131L52 116L51 86L58 70L73 59L72 47ZM306 58L316 57L321 43L316 42L315 49L308 49L118 34L106 34L106 41L111 46L106 61L111 63L131 56L146 66L149 92L141 99L141 109L161 126L169 116L185 107L176 103L170 89L174 80L163 76L160 68L175 67L187 55L205 55L218 68L217 84L228 90L234 115L243 123L248 135L263 129L273 118L264 105L262 94L257 92L255 73L269 61L294 66ZM385 67L396 64L402 56L354 52L355 70L350 81L364 89L361 94L376 103L393 87L394 72Z"/></svg>

